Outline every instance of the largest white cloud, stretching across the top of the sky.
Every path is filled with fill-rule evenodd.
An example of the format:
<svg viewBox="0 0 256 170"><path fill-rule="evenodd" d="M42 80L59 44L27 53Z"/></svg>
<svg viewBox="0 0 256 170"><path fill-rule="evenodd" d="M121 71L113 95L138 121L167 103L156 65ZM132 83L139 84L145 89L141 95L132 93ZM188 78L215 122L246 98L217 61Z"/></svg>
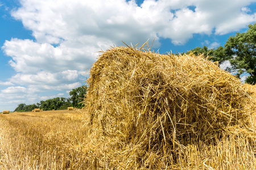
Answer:
<svg viewBox="0 0 256 170"><path fill-rule="evenodd" d="M108 45L109 42L119 45L121 41L136 44L153 39L157 34L170 38L175 44L184 44L193 33L209 35L216 28L216 34L224 34L255 22L254 15L245 14L251 2L255 1L144 0L138 7L135 1L125 0L72 3L26 0L13 16L32 30L39 43L68 41L73 44L77 38L85 36L87 40ZM195 12L189 10L189 6L195 6ZM93 46L98 48L98 45Z"/></svg>

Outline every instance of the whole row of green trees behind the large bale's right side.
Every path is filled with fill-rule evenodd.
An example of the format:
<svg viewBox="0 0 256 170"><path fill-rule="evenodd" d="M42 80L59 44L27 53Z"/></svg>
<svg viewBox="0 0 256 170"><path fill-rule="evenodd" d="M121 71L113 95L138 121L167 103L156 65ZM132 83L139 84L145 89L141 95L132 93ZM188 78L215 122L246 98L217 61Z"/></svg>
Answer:
<svg viewBox="0 0 256 170"><path fill-rule="evenodd" d="M244 73L249 74L245 83L256 83L256 23L248 25L247 32L230 36L224 46L218 46L216 49L208 49L207 46L196 47L188 53L203 54L213 62L218 61L221 65L224 61L230 62L230 67L226 71L236 74L237 78ZM184 54L184 53L181 53Z"/></svg>

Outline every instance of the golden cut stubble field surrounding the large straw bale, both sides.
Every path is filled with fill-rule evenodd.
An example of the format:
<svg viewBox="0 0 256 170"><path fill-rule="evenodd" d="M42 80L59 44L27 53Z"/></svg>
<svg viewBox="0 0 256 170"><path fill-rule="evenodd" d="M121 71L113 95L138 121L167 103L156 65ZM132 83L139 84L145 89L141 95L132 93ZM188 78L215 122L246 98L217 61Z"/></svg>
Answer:
<svg viewBox="0 0 256 170"><path fill-rule="evenodd" d="M92 152L97 143L88 137L87 120L79 110L0 114L0 169L126 169L104 159L112 154L108 150ZM254 117L251 121L256 124ZM168 168L255 169L256 143L251 135L256 136L223 135L212 144L191 141Z"/></svg>

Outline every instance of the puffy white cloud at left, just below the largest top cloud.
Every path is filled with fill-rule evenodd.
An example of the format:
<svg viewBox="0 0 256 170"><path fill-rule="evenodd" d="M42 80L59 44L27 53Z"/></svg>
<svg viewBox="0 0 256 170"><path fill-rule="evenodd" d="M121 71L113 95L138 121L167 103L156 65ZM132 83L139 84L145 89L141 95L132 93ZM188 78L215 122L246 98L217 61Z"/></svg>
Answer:
<svg viewBox="0 0 256 170"><path fill-rule="evenodd" d="M96 61L97 48L93 46L66 46L65 42L56 48L51 44L40 44L32 40L12 39L2 49L12 57L10 65L16 72L36 73L44 70L50 73L65 70L83 70Z"/></svg>

